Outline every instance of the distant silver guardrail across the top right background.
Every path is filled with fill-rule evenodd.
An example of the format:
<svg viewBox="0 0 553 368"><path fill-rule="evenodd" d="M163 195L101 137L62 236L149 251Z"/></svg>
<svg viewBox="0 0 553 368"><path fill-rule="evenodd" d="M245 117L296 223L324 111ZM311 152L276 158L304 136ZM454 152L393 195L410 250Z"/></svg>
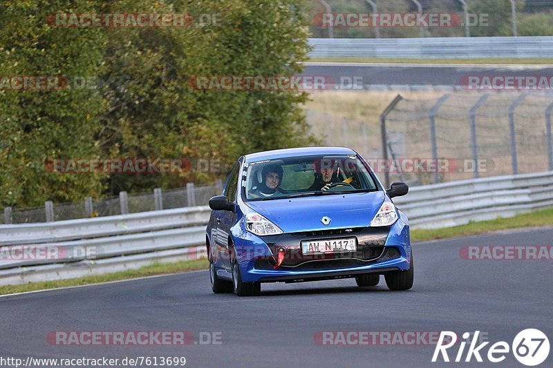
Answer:
<svg viewBox="0 0 553 368"><path fill-rule="evenodd" d="M430 37L415 39L309 39L312 59L375 57L478 59L553 57L553 37Z"/></svg>

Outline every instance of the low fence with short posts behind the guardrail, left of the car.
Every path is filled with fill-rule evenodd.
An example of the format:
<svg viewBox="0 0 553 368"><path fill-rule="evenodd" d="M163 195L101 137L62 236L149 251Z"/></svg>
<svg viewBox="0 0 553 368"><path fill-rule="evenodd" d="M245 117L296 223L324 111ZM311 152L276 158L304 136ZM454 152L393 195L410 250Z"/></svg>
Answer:
<svg viewBox="0 0 553 368"><path fill-rule="evenodd" d="M25 224L31 222L51 222L73 220L86 217L100 217L156 211L162 209L177 209L187 206L205 206L210 197L221 194L223 184L216 182L213 186L194 186L188 183L186 188L176 188L162 191L156 188L152 193L136 193L128 195L121 192L117 197L103 200L93 200L86 197L82 202L53 204L46 202L44 207L34 209L12 209L6 207L1 224Z"/></svg>

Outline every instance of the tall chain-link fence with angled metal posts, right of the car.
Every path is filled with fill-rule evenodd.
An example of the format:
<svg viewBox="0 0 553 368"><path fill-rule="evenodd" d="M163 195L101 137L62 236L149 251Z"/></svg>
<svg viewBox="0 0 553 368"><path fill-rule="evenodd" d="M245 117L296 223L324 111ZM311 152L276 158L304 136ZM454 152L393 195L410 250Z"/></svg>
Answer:
<svg viewBox="0 0 553 368"><path fill-rule="evenodd" d="M395 102L383 124L388 182L553 171L550 94L452 93Z"/></svg>

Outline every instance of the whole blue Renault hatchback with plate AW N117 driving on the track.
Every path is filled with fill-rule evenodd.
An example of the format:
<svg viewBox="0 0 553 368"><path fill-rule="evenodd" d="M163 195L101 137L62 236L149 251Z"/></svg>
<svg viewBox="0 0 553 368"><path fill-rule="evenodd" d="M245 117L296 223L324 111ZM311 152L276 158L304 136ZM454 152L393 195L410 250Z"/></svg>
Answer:
<svg viewBox="0 0 553 368"><path fill-rule="evenodd" d="M391 290L413 286L409 221L357 152L290 148L240 157L223 195L212 197L206 245L214 293L256 296L263 282L384 275Z"/></svg>

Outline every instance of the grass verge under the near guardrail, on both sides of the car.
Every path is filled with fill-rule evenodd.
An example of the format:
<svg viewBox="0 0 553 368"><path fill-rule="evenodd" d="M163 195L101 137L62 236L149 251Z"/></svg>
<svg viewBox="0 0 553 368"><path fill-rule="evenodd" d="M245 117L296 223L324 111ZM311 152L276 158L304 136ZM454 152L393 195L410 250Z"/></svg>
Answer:
<svg viewBox="0 0 553 368"><path fill-rule="evenodd" d="M471 222L462 226L455 226L444 229L432 230L413 230L411 231L411 240L413 242L422 242L427 240L438 240L446 238L458 238L468 235L478 235L507 229L517 229L523 227L552 226L553 209L536 211L525 215L517 215L510 218L499 218L497 220ZM207 269L207 260L189 260L175 263L155 263L144 266L140 269L127 270L115 273L105 273L104 275L85 276L83 278L72 278L67 280L30 282L20 285L6 285L0 287L0 295L11 293L23 293L25 291L36 291L44 289L55 289L59 287L74 287L79 285L97 284L100 282L110 282L117 280L127 280L132 278L142 278L153 275L164 275L167 273L180 273L185 271L194 271Z"/></svg>

